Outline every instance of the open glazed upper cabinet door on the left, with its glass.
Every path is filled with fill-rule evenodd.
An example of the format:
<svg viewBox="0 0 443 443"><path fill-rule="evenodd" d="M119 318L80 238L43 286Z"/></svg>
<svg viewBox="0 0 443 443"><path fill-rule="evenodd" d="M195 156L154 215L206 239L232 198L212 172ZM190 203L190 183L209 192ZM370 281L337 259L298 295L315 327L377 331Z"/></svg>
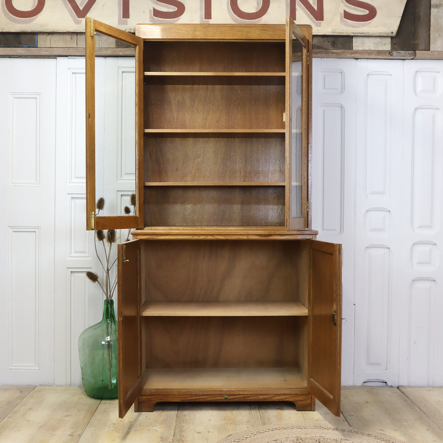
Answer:
<svg viewBox="0 0 443 443"><path fill-rule="evenodd" d="M125 58L104 57L99 34ZM143 227L143 39L89 17L85 38L86 226Z"/></svg>

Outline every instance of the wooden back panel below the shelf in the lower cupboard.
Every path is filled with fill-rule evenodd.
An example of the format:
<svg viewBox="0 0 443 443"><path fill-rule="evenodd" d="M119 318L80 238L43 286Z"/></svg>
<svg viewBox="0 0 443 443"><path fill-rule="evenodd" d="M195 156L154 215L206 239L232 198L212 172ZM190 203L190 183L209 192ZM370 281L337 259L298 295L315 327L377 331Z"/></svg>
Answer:
<svg viewBox="0 0 443 443"><path fill-rule="evenodd" d="M147 368L298 367L297 317L142 319Z"/></svg>

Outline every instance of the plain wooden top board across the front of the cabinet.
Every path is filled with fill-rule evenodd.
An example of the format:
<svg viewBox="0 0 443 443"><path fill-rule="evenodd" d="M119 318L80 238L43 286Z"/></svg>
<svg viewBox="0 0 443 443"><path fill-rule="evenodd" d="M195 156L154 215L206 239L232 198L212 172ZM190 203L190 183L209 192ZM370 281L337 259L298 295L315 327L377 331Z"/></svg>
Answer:
<svg viewBox="0 0 443 443"><path fill-rule="evenodd" d="M150 40L285 40L285 25L147 24L135 35Z"/></svg>

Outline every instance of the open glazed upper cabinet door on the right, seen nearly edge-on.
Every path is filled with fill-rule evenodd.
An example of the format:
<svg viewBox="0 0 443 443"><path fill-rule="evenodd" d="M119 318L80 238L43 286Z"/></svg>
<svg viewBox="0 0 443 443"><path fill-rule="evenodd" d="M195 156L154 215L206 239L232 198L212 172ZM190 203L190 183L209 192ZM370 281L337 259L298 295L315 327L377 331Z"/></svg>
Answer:
<svg viewBox="0 0 443 443"><path fill-rule="evenodd" d="M308 220L311 144L312 28L286 21L286 220L289 230Z"/></svg>

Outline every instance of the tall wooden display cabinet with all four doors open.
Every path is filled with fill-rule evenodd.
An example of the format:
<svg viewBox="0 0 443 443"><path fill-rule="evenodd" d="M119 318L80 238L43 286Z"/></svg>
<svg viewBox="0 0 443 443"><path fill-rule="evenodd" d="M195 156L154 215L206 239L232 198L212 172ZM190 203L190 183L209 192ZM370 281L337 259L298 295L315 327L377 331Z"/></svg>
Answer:
<svg viewBox="0 0 443 443"><path fill-rule="evenodd" d="M95 33L134 48L136 214L95 215ZM341 247L311 229L312 30L86 21L87 224L118 248L119 413L340 415ZM294 110L292 112L292 107Z"/></svg>

